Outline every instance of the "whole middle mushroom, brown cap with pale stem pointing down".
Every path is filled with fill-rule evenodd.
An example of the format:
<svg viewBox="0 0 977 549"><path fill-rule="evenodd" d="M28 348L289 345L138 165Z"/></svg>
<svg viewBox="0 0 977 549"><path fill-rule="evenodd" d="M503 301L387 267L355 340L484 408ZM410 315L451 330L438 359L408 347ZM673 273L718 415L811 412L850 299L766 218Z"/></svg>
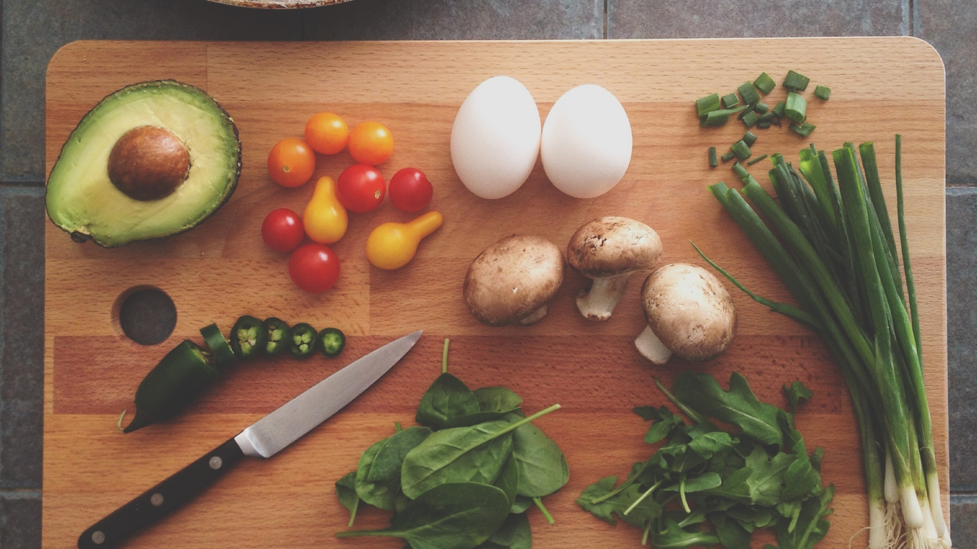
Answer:
<svg viewBox="0 0 977 549"><path fill-rule="evenodd" d="M567 245L567 261L587 278L576 308L588 320L607 320L627 289L628 277L655 269L661 239L654 229L626 217L595 219L576 230Z"/></svg>

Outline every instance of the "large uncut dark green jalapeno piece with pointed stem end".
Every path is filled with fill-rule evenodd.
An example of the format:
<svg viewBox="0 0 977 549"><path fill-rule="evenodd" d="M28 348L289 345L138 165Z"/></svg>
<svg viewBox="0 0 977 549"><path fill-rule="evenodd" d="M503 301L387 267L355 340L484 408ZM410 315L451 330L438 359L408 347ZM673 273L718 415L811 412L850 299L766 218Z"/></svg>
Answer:
<svg viewBox="0 0 977 549"><path fill-rule="evenodd" d="M136 417L125 428L132 433L165 421L184 410L220 372L197 344L184 340L156 364L136 390Z"/></svg>

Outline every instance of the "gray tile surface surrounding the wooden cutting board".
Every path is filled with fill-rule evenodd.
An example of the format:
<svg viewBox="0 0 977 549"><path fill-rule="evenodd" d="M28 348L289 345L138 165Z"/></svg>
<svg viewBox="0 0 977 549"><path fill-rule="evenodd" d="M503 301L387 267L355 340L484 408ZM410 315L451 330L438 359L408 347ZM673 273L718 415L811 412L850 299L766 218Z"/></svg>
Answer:
<svg viewBox="0 0 977 549"><path fill-rule="evenodd" d="M356 0L260 12L204 0L3 0L0 59L0 547L40 547L44 70L114 39L665 38L909 34L947 65L951 488L977 548L977 2L973 0ZM871 69L871 68L869 68ZM879 90L884 96L885 91Z"/></svg>

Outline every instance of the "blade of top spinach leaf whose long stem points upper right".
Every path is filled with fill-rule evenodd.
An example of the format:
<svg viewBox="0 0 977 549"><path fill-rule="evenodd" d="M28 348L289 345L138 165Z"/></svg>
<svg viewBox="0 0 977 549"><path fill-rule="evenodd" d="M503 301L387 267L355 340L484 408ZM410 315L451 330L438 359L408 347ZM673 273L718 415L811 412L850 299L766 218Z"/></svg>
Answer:
<svg viewBox="0 0 977 549"><path fill-rule="evenodd" d="M431 435L404 457L404 494L418 497L446 483L491 485L512 452L513 425L499 420Z"/></svg>

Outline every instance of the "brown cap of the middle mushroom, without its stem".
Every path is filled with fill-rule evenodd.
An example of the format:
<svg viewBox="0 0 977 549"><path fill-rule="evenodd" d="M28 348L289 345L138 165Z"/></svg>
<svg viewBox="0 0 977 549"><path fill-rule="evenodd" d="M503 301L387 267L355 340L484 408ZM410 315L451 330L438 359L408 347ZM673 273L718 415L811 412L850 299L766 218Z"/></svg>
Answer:
<svg viewBox="0 0 977 549"><path fill-rule="evenodd" d="M640 221L608 216L576 230L567 261L588 278L655 269L661 259L658 232Z"/></svg>

